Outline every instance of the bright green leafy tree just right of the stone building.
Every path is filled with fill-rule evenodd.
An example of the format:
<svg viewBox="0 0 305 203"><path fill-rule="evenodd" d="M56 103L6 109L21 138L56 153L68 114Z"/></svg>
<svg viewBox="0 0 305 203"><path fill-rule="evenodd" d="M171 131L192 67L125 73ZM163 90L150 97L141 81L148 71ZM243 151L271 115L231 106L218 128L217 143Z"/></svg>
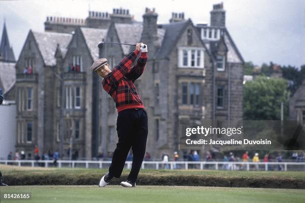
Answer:
<svg viewBox="0 0 305 203"><path fill-rule="evenodd" d="M280 78L258 77L244 86L244 120L280 120L281 102L284 118L288 118L287 81Z"/></svg>

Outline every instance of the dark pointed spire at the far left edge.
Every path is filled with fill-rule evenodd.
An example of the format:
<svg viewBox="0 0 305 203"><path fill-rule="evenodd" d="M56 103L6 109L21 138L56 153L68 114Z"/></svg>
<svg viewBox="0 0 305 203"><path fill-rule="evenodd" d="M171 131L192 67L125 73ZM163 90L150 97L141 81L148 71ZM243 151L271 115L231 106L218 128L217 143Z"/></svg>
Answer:
<svg viewBox="0 0 305 203"><path fill-rule="evenodd" d="M9 46L5 22L3 24L2 37L0 42L0 60L6 62L16 62L12 47Z"/></svg>

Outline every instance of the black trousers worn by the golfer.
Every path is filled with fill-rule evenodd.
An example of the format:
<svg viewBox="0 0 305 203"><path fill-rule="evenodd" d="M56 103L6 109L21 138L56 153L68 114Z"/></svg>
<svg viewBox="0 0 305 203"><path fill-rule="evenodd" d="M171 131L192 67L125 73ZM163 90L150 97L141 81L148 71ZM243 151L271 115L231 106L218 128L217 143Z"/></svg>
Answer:
<svg viewBox="0 0 305 203"><path fill-rule="evenodd" d="M130 148L133 151L133 164L128 181L136 182L144 159L148 136L148 116L145 109L120 111L117 119L119 141L109 167L111 177L120 178Z"/></svg>

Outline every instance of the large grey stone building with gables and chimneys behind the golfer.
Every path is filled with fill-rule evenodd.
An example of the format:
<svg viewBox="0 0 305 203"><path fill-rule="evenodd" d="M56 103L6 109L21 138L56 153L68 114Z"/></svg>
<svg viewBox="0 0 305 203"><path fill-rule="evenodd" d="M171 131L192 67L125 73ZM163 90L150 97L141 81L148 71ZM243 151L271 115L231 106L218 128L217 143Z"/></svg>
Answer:
<svg viewBox="0 0 305 203"><path fill-rule="evenodd" d="M16 64L18 149L38 144L40 151L68 156L72 146L75 158L111 156L117 111L90 66L100 54L114 67L134 46L104 44L99 50L103 40L148 44L149 61L136 86L149 114L153 159L179 149L182 120L241 120L243 58L225 27L222 3L214 5L209 26L184 13L172 13L166 24L157 24L157 16L147 8L137 22L125 9L91 11L86 19L48 17L44 33L30 31ZM32 66L31 74L22 73L24 64Z"/></svg>

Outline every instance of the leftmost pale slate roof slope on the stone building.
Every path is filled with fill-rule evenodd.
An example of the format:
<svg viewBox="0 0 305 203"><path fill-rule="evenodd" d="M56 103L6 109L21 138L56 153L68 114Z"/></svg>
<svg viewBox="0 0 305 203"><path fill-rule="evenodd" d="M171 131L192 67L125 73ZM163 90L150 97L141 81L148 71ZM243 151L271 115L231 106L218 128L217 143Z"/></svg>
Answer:
<svg viewBox="0 0 305 203"><path fill-rule="evenodd" d="M57 44L61 47L67 47L72 39L72 34L66 33L34 31L32 33L42 55L44 64L47 66L56 65L56 58L54 55Z"/></svg>

